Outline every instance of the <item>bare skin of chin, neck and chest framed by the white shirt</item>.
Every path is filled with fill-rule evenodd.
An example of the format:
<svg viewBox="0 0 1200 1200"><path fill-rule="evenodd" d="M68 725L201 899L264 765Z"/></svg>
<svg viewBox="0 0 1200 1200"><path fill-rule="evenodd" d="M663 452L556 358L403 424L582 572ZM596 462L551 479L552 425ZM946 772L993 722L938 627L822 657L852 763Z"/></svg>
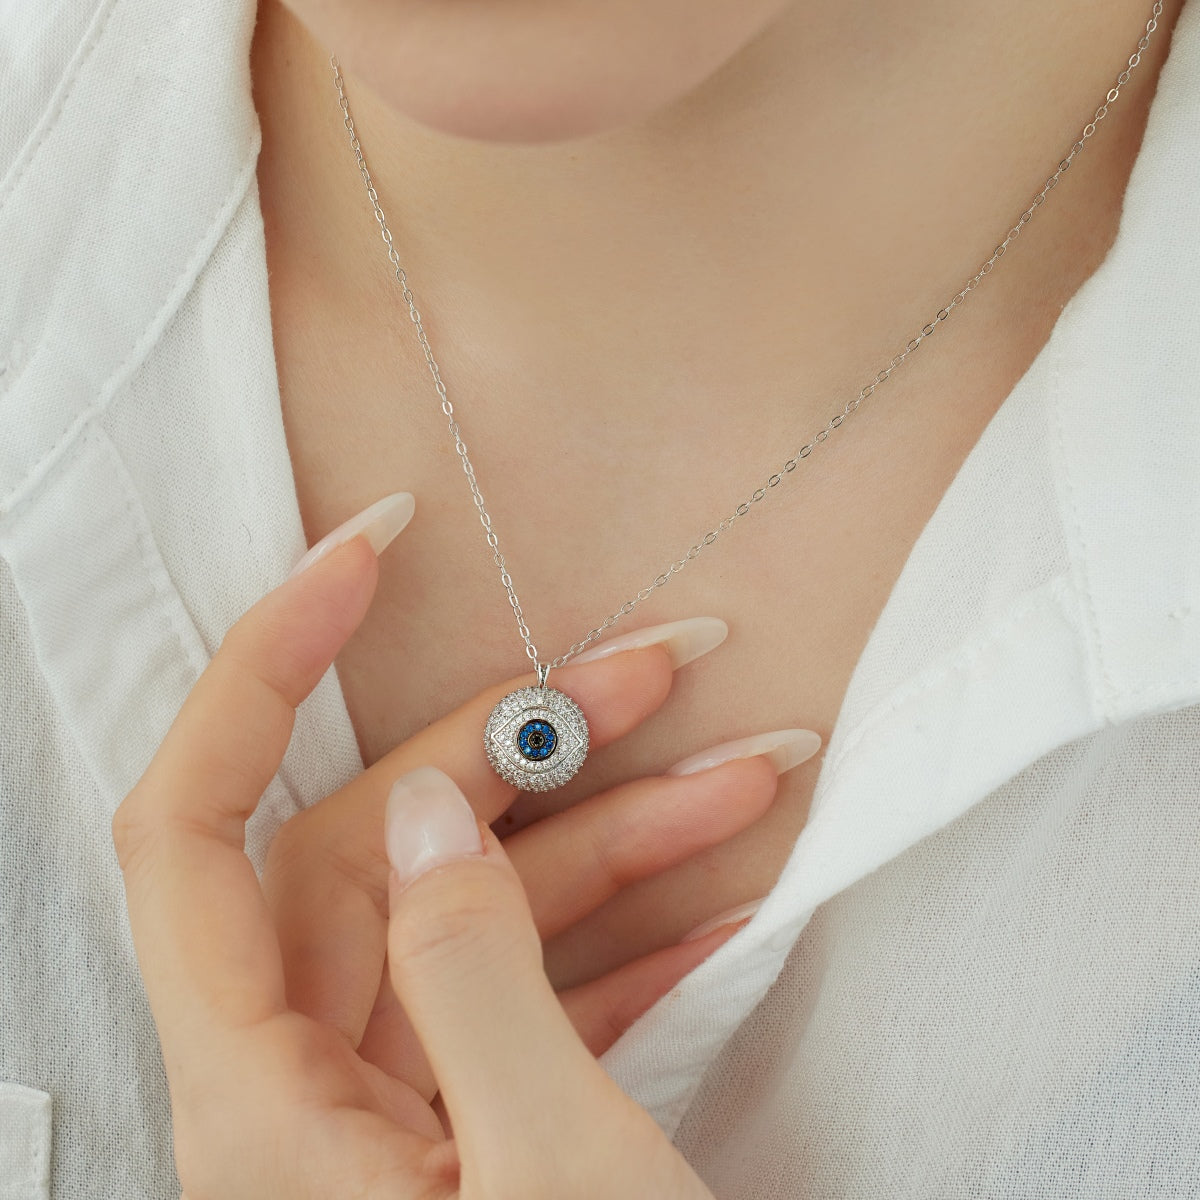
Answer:
<svg viewBox="0 0 1200 1200"><path fill-rule="evenodd" d="M330 47L527 614L557 653L977 270L1148 13L1144 0L680 8L263 0L258 179L305 527L316 540L390 491L418 497L338 658L368 763L523 660L346 144ZM732 737L828 739L920 530L1111 244L1177 10L985 286L625 622L714 614L727 644L653 721L498 829ZM551 978L582 983L767 892L818 770L790 773L751 828L552 938Z"/></svg>

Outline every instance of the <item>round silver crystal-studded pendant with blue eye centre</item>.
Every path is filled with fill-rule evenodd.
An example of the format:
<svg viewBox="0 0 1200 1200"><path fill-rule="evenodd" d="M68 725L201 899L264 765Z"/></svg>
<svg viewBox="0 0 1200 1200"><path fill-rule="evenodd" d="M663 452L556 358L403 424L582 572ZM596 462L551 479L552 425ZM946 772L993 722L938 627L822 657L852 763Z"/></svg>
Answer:
<svg viewBox="0 0 1200 1200"><path fill-rule="evenodd" d="M492 709L484 728L487 761L522 792L562 787L588 756L583 709L554 688L518 688Z"/></svg>

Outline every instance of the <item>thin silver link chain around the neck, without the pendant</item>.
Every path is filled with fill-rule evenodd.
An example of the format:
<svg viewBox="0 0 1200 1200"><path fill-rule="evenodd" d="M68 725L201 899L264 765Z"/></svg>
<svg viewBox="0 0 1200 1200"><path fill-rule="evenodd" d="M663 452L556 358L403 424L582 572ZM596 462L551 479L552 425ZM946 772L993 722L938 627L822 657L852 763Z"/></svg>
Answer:
<svg viewBox="0 0 1200 1200"><path fill-rule="evenodd" d="M1116 102L1117 97L1121 95L1121 89L1129 82L1129 76L1141 61L1142 54L1150 46L1151 35L1158 28L1158 18L1162 14L1163 0L1154 0L1150 20L1146 22L1146 31L1138 40L1138 48L1132 55L1129 55L1129 60L1126 64L1124 70L1117 76L1116 83L1109 89L1108 95L1104 97L1104 102L1096 109L1092 114L1092 119L1084 126L1079 138L1067 151L1067 155L1058 162L1057 170L1055 170L1055 173L1045 181L1042 190L1033 197L1030 206L1021 214L1018 222L1004 235L1004 240L996 246L991 257L983 264L983 266L979 268L978 271L976 271L974 275L971 276L970 280L967 280L954 299L950 300L944 307L938 308L934 319L923 325L919 334L910 338L904 350L896 354L886 367L876 372L875 378L862 388L857 396L847 401L842 410L836 413L829 420L829 424L821 430L821 432L817 433L811 442L800 446L800 449L797 450L796 454L779 468L779 470L773 472L763 485L756 488L749 498L743 500L727 517L720 521L698 541L690 546L688 552L682 558L677 558L660 575L655 576L653 583L642 588L638 593L626 600L614 613L605 617L605 619L596 625L595 629L588 632L587 637L575 642L570 649L559 654L558 658L551 659L551 661L546 664L544 664L539 658L538 647L534 644L533 638L529 635L529 626L526 623L524 612L521 608L521 601L512 586L512 576L509 574L508 564L504 562L504 554L500 553L500 540L492 524L492 517L487 511L487 505L484 503L484 493L479 490L479 480L475 478L474 464L470 461L470 456L467 454L467 443L463 440L462 430L458 427L454 404L446 395L446 388L442 382L442 372L438 370L437 361L433 358L433 350L430 349L430 340L425 334L425 325L421 323L421 314L413 299L413 292L408 286L408 275L400 263L400 254L396 252L396 246L392 242L391 229L388 227L388 218L384 216L383 208L379 204L379 193L376 191L374 182L371 179L371 172L367 168L366 158L362 156L362 146L359 142L358 133L354 131L354 119L350 116L350 104L346 98L346 80L342 78L342 72L337 64L337 56L330 56L329 65L332 67L334 83L337 85L337 97L342 108L343 124L346 125L346 131L350 137L350 149L354 151L354 156L358 160L359 173L362 175L362 182L366 184L367 197L371 200L371 206L374 209L376 221L379 223L379 233L382 234L384 244L388 247L388 260L391 263L396 282L400 283L404 300L408 302L409 318L416 326L416 337L421 344L421 349L425 352L425 361L428 364L430 372L433 376L433 385L437 388L438 396L442 400L442 412L445 414L446 421L449 422L450 436L454 438L455 450L462 460L462 469L467 475L467 482L470 485L470 494L475 502L475 509L479 511L479 520L484 527L484 533L487 536L487 545L492 551L492 560L496 563L496 566L500 572L500 582L504 584L509 604L511 605L512 613L516 617L517 630L521 634L521 640L524 642L526 654L529 656L529 660L534 664L534 666L538 667L539 679L542 683L545 682L546 672L550 668L563 666L578 654L580 650L589 646L598 637L601 637L607 630L616 625L622 617L629 616L629 613L631 613L643 600L648 600L658 588L668 583L671 578L678 575L679 571L682 571L694 558L697 558L701 551L703 551L707 546L712 546L722 533L731 529L733 523L744 517L755 504L764 499L772 488L778 487L784 481L786 475L790 475L793 470L796 470L800 461L806 458L812 452L812 448L818 442L824 442L826 438L828 438L829 434L838 428L838 426L841 425L841 422L850 416L850 414L853 413L858 406L875 391L876 388L880 386L880 384L887 383L887 380L892 377L892 372L895 371L902 362L906 362L908 356L925 341L925 338L930 337L937 326L941 325L942 322L946 320L946 318L949 317L949 314L958 308L959 305L961 305L977 287L979 287L983 280L991 274L996 263L1003 257L1004 251L1008 250L1013 240L1033 217L1033 214L1045 202L1045 198L1050 194L1051 190L1057 186L1063 172L1066 172L1072 162L1075 161L1075 156L1084 149L1087 139L1096 133L1096 128L1100 121L1108 116L1109 106Z"/></svg>

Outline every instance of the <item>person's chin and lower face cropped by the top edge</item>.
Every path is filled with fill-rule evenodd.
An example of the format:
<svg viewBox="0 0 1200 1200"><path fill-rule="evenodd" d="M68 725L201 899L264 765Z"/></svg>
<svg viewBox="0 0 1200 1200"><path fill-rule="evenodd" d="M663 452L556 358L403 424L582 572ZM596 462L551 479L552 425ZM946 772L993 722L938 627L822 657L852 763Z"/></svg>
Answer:
<svg viewBox="0 0 1200 1200"><path fill-rule="evenodd" d="M643 120L788 0L286 0L390 108L460 138L544 143Z"/></svg>

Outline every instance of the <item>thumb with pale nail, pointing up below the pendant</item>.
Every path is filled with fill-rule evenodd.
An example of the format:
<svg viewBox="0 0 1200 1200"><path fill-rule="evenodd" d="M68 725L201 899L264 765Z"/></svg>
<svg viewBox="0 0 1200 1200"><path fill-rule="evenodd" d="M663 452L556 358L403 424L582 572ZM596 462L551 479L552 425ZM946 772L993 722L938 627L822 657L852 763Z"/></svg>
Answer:
<svg viewBox="0 0 1200 1200"><path fill-rule="evenodd" d="M392 786L386 844L391 983L437 1078L464 1182L544 1171L570 1115L610 1081L546 978L521 880L433 767Z"/></svg>

